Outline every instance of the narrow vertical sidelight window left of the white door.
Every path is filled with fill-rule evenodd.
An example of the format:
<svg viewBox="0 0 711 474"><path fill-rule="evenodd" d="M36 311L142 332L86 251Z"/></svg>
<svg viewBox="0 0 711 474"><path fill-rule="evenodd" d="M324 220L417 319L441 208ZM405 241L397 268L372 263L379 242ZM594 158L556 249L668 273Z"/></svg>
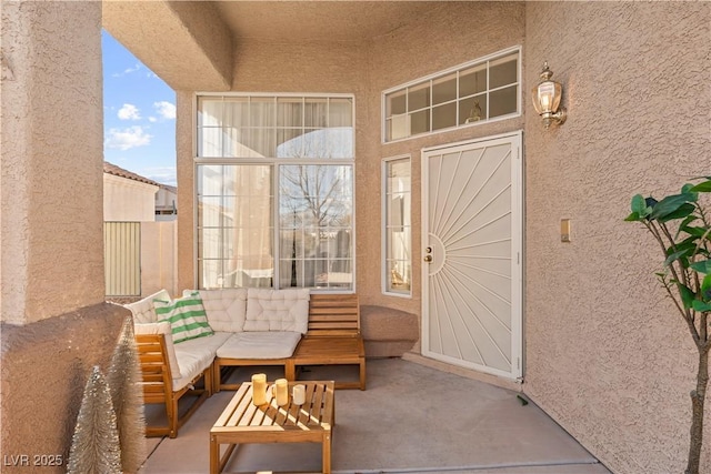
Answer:
<svg viewBox="0 0 711 474"><path fill-rule="evenodd" d="M411 294L410 157L383 161L383 290Z"/></svg>

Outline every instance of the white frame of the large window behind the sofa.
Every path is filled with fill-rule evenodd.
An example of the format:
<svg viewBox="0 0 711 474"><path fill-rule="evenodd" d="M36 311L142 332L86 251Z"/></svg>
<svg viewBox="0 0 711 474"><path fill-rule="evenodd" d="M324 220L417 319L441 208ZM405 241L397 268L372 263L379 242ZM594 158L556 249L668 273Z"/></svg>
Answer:
<svg viewBox="0 0 711 474"><path fill-rule="evenodd" d="M301 99L349 99L351 101L351 125L352 129L352 157L351 158L276 158L276 157L200 157L198 155L198 150L200 149L199 143L199 100L201 98L274 98L274 99L288 99L288 98L301 98ZM309 288L311 292L314 293L354 293L357 291L357 245L356 245L356 235L357 235L357 223L356 223L356 189L357 189L357 177L356 177L356 94L354 93L334 93L334 92L194 92L192 95L192 175L193 175L193 186L192 186L192 203L193 203L193 229L192 229L192 262L193 262L193 283L198 285L200 281L200 261L199 261L199 196L198 196L198 168L200 165L236 165L236 164L257 164L257 165L269 165L271 169L271 180L272 186L274 189L274 195L272 199L272 249L273 249L273 276L272 276L272 289L281 289L280 282L280 261L281 261L281 248L280 248L280 226L279 226L279 182L280 182L280 165L290 165L290 164L302 164L302 165L348 165L351 168L351 180L352 180L352 192L351 192L351 202L350 206L352 210L351 216L351 231L352 231L352 243L351 243L351 266L352 266L352 282L350 288L312 288L312 286L299 286L299 288ZM328 128L327 128L328 129Z"/></svg>

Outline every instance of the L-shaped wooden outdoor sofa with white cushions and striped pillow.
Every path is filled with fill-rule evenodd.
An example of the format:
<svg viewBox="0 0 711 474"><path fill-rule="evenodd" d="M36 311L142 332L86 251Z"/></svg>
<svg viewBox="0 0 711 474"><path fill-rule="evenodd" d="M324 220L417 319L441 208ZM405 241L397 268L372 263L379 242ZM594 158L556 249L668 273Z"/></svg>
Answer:
<svg viewBox="0 0 711 474"><path fill-rule="evenodd" d="M186 290L172 300L161 290L127 304L143 376L146 404L164 404L168 424L147 435L176 437L207 397L239 384L222 382L227 367L281 365L294 381L303 365L359 366L365 389L365 354L356 294L311 294L308 289ZM184 395L197 399L179 416Z"/></svg>

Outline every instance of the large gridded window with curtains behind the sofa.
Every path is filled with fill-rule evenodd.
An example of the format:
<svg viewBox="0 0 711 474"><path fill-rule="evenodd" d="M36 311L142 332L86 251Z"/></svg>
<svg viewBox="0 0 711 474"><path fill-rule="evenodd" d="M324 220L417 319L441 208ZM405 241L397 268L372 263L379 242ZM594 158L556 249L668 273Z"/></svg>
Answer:
<svg viewBox="0 0 711 474"><path fill-rule="evenodd" d="M353 98L201 95L199 288L353 289Z"/></svg>

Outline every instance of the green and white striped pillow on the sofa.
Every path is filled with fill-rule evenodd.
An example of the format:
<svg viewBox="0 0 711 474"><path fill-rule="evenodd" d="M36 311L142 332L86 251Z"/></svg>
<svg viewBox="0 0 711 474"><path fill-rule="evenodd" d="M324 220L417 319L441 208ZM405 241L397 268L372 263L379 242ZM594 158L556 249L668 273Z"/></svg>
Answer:
<svg viewBox="0 0 711 474"><path fill-rule="evenodd" d="M173 301L153 300L153 305L158 321L170 323L173 344L214 334L198 292Z"/></svg>

